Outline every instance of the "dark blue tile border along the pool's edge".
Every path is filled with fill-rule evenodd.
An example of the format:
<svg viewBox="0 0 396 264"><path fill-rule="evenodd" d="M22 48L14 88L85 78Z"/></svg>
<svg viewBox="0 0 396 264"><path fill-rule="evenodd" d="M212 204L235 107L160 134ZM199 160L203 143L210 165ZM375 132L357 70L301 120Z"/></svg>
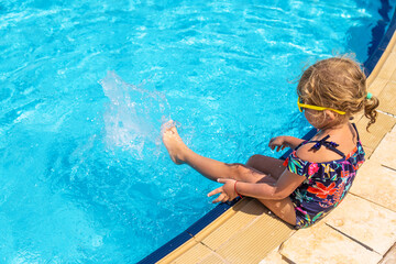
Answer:
<svg viewBox="0 0 396 264"><path fill-rule="evenodd" d="M384 2L384 0L382 0L382 2ZM383 55L395 31L396 31L396 9L394 7L394 14L386 33L383 36L381 36L381 35L376 35L373 30L373 38L382 37L382 40L378 46L373 52L373 54L363 64L366 76L369 76L373 72L375 65ZM302 139L309 140L315 134L316 134L316 130L312 129ZM285 160L290 154L290 152L292 150L289 150L284 155L282 155L280 160ZM218 205L211 211L209 211L207 215L200 218L198 221L193 223L187 230L185 230L184 232L172 239L169 242L167 242L166 244L164 244L163 246L161 246L160 249L157 249L156 251L144 257L138 264L152 264L158 262L160 260L168 255L170 252L176 250L178 246L187 242L189 239L194 238L194 235L196 235L198 232L205 229L209 223L215 221L218 217L220 217L224 211L230 209L239 200L240 198L237 198L231 202Z"/></svg>

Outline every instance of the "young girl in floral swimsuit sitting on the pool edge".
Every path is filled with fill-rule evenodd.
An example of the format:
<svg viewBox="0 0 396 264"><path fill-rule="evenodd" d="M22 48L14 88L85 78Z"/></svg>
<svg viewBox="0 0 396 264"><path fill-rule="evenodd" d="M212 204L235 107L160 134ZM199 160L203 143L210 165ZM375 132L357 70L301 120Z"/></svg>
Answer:
<svg viewBox="0 0 396 264"><path fill-rule="evenodd" d="M280 135L270 141L276 151L292 147L286 161L253 155L246 165L226 164L198 155L186 146L175 127L163 134L164 144L176 164L188 164L223 186L213 202L237 196L258 199L271 211L297 229L322 219L349 191L364 151L352 116L364 110L375 122L378 100L366 91L366 79L351 58L317 62L302 73L297 86L297 106L317 129L310 141Z"/></svg>

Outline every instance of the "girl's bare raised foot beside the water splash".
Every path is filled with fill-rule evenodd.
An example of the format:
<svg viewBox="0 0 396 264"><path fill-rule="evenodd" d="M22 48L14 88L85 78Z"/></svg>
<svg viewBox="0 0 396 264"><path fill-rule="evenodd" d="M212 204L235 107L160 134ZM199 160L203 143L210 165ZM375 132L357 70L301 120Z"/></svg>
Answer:
<svg viewBox="0 0 396 264"><path fill-rule="evenodd" d="M163 124L163 142L172 161L176 164L184 164L183 153L188 150L188 147L177 133L174 121L172 120Z"/></svg>

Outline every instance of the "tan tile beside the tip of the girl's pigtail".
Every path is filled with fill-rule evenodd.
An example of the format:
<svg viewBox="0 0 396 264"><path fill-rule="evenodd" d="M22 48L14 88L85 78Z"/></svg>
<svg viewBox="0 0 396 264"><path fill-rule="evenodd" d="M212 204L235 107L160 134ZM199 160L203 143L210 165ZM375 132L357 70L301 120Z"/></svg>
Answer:
<svg viewBox="0 0 396 264"><path fill-rule="evenodd" d="M358 120L356 125L363 146L375 150L385 134L392 130L396 123L396 119L391 116L378 113L376 122L366 131L369 120L362 118Z"/></svg>

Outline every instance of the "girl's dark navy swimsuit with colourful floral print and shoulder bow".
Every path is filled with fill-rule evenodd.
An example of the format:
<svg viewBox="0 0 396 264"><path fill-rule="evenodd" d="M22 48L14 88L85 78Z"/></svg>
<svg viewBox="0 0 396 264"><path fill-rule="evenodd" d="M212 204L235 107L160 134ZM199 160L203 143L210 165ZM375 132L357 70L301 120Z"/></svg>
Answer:
<svg viewBox="0 0 396 264"><path fill-rule="evenodd" d="M352 125L358 133L356 127ZM359 134L356 146L348 155L336 148L337 143L326 141L328 138L326 136L320 141L302 142L284 163L292 173L306 177L302 184L290 195L296 210L297 229L314 224L334 209L351 188L356 170L364 162L365 153ZM307 143L316 143L312 146L314 150L326 146L340 154L342 158L323 163L302 161L297 157L296 152Z"/></svg>

